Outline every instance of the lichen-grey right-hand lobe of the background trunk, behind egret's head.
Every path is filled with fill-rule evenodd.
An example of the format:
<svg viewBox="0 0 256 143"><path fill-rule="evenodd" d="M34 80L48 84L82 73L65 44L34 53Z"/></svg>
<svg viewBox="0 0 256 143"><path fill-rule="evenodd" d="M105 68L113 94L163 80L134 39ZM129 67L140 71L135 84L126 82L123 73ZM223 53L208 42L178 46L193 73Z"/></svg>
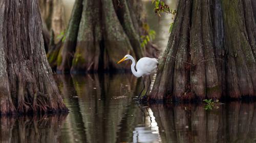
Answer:
<svg viewBox="0 0 256 143"><path fill-rule="evenodd" d="M104 69L130 68L129 63L121 66L116 63L123 55L135 56L135 52L117 17L112 0L102 0L102 11L104 12L102 17L105 25L104 46L106 47L103 54ZM141 57L136 57L136 59L138 58Z"/></svg>

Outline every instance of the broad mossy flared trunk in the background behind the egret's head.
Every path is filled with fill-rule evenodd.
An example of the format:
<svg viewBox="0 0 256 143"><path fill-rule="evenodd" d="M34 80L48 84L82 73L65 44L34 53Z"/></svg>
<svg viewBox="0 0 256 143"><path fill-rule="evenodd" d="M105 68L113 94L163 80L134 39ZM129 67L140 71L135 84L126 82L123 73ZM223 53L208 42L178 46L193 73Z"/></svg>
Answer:
<svg viewBox="0 0 256 143"><path fill-rule="evenodd" d="M128 69L128 62L116 63L126 54L137 60L145 55L156 57L158 50L152 44L140 46L140 36L146 34L141 32L145 19L140 17L141 10L130 8L134 3L127 0L76 0L65 42L57 58L49 59L50 64L57 64L57 73ZM136 3L142 9L141 2ZM48 57L52 54L48 53Z"/></svg>

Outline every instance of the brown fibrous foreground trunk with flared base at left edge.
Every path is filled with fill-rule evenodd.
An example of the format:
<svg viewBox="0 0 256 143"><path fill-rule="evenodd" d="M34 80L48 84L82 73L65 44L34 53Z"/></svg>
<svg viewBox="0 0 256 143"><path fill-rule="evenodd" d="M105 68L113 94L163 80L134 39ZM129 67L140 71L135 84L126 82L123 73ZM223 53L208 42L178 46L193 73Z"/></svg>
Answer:
<svg viewBox="0 0 256 143"><path fill-rule="evenodd" d="M0 2L0 113L67 111L46 58L38 2Z"/></svg>

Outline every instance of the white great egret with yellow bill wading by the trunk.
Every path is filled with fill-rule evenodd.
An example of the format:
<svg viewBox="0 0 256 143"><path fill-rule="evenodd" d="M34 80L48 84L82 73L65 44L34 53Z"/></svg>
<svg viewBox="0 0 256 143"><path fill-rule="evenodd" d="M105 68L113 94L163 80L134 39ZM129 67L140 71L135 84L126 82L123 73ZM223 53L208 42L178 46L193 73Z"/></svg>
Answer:
<svg viewBox="0 0 256 143"><path fill-rule="evenodd" d="M133 56L131 56L131 55L125 55L117 63L119 64L125 60L132 60L131 70L132 70L133 75L137 78L144 77L144 76L148 76L150 78L150 74L154 73L158 66L158 61L156 58L144 57L144 58L139 59L139 61L136 64ZM134 68L135 65L136 65L137 71ZM150 85L151 85L151 79L150 79L150 84L147 87L147 90L148 90L148 88L150 88ZM141 90L138 98L140 98L140 95L141 95L142 91L144 90L144 88L145 88L145 82L143 80L143 89ZM147 93L147 90L146 90L146 93Z"/></svg>

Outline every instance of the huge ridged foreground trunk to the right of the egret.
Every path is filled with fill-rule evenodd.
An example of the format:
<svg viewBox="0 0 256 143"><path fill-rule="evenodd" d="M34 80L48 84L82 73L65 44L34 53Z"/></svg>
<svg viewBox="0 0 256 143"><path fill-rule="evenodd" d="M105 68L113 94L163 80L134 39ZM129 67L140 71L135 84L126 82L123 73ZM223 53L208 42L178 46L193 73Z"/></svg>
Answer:
<svg viewBox="0 0 256 143"><path fill-rule="evenodd" d="M251 0L181 0L150 99L256 96Z"/></svg>

